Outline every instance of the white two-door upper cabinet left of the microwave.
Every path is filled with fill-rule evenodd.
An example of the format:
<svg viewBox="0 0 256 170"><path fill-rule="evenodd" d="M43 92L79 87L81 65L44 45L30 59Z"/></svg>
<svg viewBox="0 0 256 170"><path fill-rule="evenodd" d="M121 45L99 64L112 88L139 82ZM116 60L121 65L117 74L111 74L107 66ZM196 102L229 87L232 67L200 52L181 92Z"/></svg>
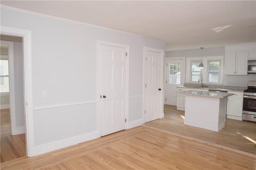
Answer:
<svg viewBox="0 0 256 170"><path fill-rule="evenodd" d="M224 74L247 75L248 51L225 52Z"/></svg>

